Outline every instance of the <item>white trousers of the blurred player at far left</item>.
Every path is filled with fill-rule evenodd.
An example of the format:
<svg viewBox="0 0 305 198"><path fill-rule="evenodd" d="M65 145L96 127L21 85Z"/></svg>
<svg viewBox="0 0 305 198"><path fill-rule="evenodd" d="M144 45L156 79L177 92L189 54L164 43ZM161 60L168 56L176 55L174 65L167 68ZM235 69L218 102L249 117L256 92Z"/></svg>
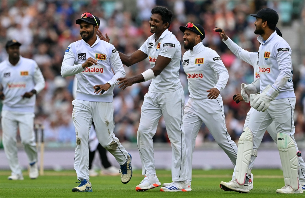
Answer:
<svg viewBox="0 0 305 198"><path fill-rule="evenodd" d="M21 143L29 159L29 163L37 162L37 150L34 133L34 117L32 112L16 112L3 110L2 119L2 141L6 158L9 162L12 175L22 174L18 162L18 150L16 146L17 129L19 128Z"/></svg>

